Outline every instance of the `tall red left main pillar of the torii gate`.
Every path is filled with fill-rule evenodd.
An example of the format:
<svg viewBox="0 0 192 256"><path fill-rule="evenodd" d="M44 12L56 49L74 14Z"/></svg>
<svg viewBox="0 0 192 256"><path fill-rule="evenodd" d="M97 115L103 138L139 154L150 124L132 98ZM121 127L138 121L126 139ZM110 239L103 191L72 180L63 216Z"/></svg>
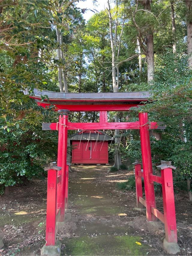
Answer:
<svg viewBox="0 0 192 256"><path fill-rule="evenodd" d="M68 113L66 109L58 110L62 113L59 116L58 122L58 158L57 164L62 166L61 171L58 171L58 176L61 175L61 182L58 184L57 192L57 207L60 208L60 216L58 222L64 221L65 214L65 186L66 186L66 165L67 165L67 124Z"/></svg>

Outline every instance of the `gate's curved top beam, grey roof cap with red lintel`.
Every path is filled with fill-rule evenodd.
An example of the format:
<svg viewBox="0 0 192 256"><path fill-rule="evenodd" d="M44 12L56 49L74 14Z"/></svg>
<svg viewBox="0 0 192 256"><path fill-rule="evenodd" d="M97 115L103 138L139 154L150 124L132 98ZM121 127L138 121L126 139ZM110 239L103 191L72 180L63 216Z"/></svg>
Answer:
<svg viewBox="0 0 192 256"><path fill-rule="evenodd" d="M27 93L26 93L27 94ZM142 105L149 101L150 91L117 92L117 93L62 93L53 91L39 91L34 89L34 95L29 97L35 99L42 107L55 105L58 109L70 111L128 111L131 107ZM41 96L47 99L41 101Z"/></svg>

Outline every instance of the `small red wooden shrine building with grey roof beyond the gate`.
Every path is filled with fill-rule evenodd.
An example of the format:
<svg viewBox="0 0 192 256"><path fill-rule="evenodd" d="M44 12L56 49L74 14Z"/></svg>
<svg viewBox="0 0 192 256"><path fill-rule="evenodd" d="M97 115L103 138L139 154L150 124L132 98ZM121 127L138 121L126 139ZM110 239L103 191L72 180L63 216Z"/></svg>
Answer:
<svg viewBox="0 0 192 256"><path fill-rule="evenodd" d="M73 164L108 164L108 141L112 137L100 130L83 131L70 136Z"/></svg>

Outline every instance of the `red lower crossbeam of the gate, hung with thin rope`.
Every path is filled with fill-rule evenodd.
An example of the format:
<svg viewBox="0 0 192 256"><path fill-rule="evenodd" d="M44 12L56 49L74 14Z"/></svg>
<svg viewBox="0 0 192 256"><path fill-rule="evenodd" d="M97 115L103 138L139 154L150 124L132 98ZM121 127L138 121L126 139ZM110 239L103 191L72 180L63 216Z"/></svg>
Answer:
<svg viewBox="0 0 192 256"><path fill-rule="evenodd" d="M150 124L150 128L151 129L157 129L158 124L157 122L151 122ZM50 124L50 128L52 130L56 130L57 127L57 123L51 123ZM78 129L82 129L82 130L87 130L87 129L91 129L91 130L98 130L98 129L140 129L140 123L139 121L136 122L122 122L122 123L71 123L68 122L68 130L78 130Z"/></svg>

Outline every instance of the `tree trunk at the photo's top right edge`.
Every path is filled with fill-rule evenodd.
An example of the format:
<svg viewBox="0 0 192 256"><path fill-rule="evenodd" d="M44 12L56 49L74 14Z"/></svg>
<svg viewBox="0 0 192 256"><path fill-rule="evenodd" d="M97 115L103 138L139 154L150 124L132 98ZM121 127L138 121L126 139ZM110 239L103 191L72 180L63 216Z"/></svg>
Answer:
<svg viewBox="0 0 192 256"><path fill-rule="evenodd" d="M187 7L187 54L188 54L188 66L192 69L192 1L185 0Z"/></svg>

